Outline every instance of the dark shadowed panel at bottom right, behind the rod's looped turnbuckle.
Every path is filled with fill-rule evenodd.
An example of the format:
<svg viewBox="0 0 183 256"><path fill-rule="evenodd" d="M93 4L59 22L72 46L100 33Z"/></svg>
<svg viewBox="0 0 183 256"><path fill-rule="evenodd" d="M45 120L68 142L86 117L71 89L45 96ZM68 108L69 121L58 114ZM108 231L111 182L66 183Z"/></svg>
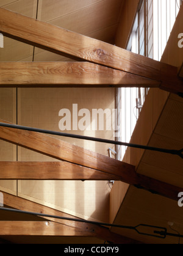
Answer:
<svg viewBox="0 0 183 256"><path fill-rule="evenodd" d="M169 233L182 234L182 214L182 208L178 207L178 202L130 186L123 200L123 205L121 205L119 210L119 214L115 219L115 224L130 227L135 227L139 224L154 225L156 227L167 228L167 232ZM170 227L169 222L173 223L173 227ZM162 229L141 226L137 230L146 234L155 235L154 230L160 231ZM111 231L147 244L179 243L179 238L173 236L167 236L167 238L162 239L149 235L140 235L135 230L115 227L112 227Z"/></svg>

